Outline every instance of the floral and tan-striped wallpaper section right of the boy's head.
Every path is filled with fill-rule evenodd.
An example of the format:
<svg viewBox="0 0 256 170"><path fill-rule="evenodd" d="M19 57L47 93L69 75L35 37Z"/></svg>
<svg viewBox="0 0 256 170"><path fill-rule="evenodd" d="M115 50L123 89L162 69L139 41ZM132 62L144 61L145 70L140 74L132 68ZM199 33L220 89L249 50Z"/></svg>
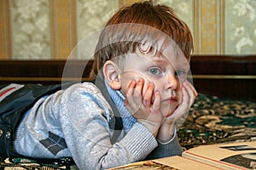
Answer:
<svg viewBox="0 0 256 170"><path fill-rule="evenodd" d="M256 0L158 1L188 23L198 54L256 54Z"/></svg>

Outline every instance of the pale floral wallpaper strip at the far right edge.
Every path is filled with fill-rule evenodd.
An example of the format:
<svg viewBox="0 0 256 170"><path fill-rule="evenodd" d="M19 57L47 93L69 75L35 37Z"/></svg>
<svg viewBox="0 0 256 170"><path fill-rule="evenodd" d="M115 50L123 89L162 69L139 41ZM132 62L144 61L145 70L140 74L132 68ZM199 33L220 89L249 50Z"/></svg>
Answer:
<svg viewBox="0 0 256 170"><path fill-rule="evenodd" d="M256 1L225 1L225 53L256 54Z"/></svg>

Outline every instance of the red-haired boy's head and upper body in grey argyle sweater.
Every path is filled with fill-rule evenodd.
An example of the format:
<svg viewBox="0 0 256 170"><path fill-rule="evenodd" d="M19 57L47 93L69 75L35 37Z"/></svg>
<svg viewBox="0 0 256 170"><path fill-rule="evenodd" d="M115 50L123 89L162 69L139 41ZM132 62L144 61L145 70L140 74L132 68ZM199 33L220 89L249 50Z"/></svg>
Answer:
<svg viewBox="0 0 256 170"><path fill-rule="evenodd" d="M192 49L189 28L172 8L150 2L121 8L99 37L95 83L38 99L20 120L15 151L73 157L79 169L181 155L177 122L197 95L186 81ZM122 130L113 130L118 123Z"/></svg>

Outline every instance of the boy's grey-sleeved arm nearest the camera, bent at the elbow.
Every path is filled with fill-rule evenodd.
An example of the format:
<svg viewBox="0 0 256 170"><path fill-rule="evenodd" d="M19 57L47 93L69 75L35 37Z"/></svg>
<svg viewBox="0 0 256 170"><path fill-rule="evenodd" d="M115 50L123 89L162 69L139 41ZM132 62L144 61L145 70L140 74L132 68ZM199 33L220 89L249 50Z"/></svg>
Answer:
<svg viewBox="0 0 256 170"><path fill-rule="evenodd" d="M106 100L96 88L68 90L63 96L67 99L62 99L67 102L62 103L60 119L68 149L79 168L106 169L141 161L157 147L154 135L138 122L121 134L123 139L111 144Z"/></svg>

